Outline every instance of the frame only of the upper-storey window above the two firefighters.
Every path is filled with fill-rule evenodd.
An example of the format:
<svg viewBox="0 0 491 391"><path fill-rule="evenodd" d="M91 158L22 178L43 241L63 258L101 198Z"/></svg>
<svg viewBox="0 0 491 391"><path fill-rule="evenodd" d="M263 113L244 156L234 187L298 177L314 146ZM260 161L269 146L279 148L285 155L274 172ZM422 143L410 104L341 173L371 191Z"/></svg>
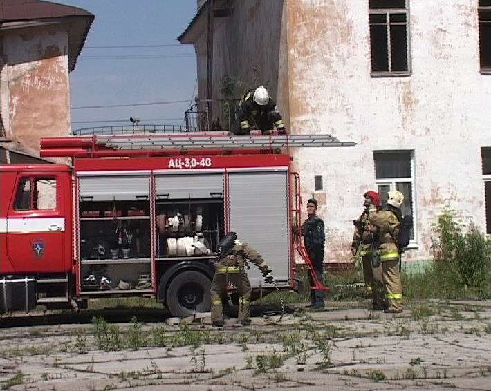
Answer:
<svg viewBox="0 0 491 391"><path fill-rule="evenodd" d="M382 15L385 14L385 26L391 25L405 25L406 26L406 56L407 56L407 70L391 70L391 29L387 28L387 62L389 70L373 70L371 60L373 57L372 45L371 45L371 26L370 15ZM406 15L406 21L403 22L391 22L390 15L403 14ZM412 75L411 67L411 39L410 39L410 12L409 12L409 0L405 0L405 9L402 8L370 8L369 6L369 47L370 47L370 75L371 77L404 77ZM377 24L377 23L374 23Z"/></svg>

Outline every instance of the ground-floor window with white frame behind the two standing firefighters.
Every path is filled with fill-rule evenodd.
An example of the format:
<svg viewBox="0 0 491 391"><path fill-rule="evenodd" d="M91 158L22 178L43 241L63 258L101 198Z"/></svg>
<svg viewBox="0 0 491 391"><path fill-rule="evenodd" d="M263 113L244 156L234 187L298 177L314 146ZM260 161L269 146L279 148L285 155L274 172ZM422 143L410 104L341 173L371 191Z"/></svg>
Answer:
<svg viewBox="0 0 491 391"><path fill-rule="evenodd" d="M373 161L375 162L375 182L382 207L387 206L389 191L395 189L404 194L404 202L400 211L402 216L411 215L413 218L411 242L415 242L414 151L376 151L373 152Z"/></svg>

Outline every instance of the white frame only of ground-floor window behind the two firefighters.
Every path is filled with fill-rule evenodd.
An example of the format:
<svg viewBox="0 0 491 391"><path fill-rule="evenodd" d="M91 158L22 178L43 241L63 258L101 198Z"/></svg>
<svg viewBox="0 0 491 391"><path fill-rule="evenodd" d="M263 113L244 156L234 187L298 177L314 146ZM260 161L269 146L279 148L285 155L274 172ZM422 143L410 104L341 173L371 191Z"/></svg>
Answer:
<svg viewBox="0 0 491 391"><path fill-rule="evenodd" d="M407 153L409 152L409 167L411 169L410 177L401 177L401 178L380 178L377 179L377 173L375 171L376 164L376 155L381 153ZM383 150L383 151L373 151L373 175L375 177L375 185L377 192L379 192L380 186L389 186L389 191L396 190L396 184L398 183L410 183L411 184L411 214L413 218L413 236L411 240L409 240L409 245L406 249L418 249L418 225L416 222L418 218L416 216L416 178L414 178L416 164L414 162L414 150L411 149L391 149L391 150ZM382 200L380 200L382 202Z"/></svg>

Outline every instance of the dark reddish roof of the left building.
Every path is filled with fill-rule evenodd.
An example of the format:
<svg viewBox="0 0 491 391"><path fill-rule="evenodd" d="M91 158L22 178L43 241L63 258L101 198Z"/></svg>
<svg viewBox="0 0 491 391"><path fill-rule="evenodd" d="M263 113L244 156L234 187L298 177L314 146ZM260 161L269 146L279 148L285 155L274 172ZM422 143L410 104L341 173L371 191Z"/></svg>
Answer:
<svg viewBox="0 0 491 391"><path fill-rule="evenodd" d="M73 6L64 6L41 0L0 0L0 23L36 21L39 19L73 18L68 30L68 64L70 70L84 46L94 19L90 12Z"/></svg>

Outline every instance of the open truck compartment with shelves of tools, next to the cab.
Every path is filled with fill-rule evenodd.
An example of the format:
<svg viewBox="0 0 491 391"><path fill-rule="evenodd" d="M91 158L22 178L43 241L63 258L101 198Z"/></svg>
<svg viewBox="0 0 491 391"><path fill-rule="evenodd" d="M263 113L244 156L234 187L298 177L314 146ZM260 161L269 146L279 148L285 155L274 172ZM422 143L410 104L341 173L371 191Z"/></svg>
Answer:
<svg viewBox="0 0 491 391"><path fill-rule="evenodd" d="M151 289L149 178L79 178L82 292Z"/></svg>

